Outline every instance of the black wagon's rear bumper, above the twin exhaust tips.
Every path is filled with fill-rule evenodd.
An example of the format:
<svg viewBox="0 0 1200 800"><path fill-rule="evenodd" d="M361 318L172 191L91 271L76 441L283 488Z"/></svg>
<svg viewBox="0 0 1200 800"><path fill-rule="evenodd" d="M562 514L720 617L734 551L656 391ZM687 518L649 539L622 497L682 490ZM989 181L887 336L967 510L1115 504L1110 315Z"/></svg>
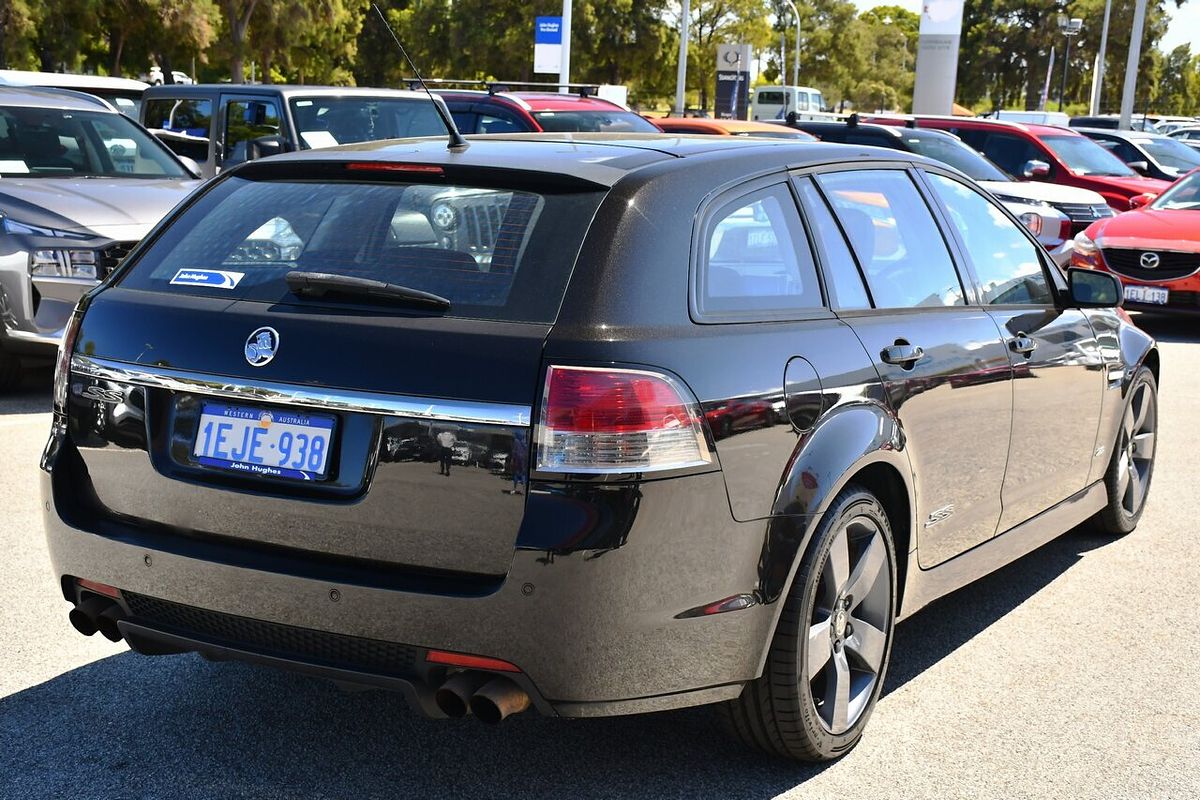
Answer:
<svg viewBox="0 0 1200 800"><path fill-rule="evenodd" d="M451 584L445 591L395 589L287 573L262 553L218 561L199 557L187 536L137 528L97 533L60 513L60 503L71 504L74 487L62 475L55 480L54 447L46 461L46 535L66 594L71 578L86 578L182 607L400 645L414 655L407 668L364 668L354 658L316 657L302 649L281 654L253 637L239 640L236 632L188 630L139 619L127 609L131 645L143 651L154 646L140 643L166 642L173 646L161 651L197 650L347 682L408 686L414 708L436 716L428 692L444 672L431 670L425 654L450 650L520 667L542 712L606 716L736 697L744 681L757 676L774 624L774 604L677 619L682 612L754 593L760 579L766 523L733 522L718 473L643 483L636 519L623 541L604 547L592 542L588 549L518 548L503 579L463 593ZM563 498L556 498L553 487L532 487L530 504L556 499ZM586 493L569 501L586 504ZM527 523L530 518L545 525L553 515L530 513ZM522 541L529 535L522 530ZM564 541L560 531L544 539Z"/></svg>

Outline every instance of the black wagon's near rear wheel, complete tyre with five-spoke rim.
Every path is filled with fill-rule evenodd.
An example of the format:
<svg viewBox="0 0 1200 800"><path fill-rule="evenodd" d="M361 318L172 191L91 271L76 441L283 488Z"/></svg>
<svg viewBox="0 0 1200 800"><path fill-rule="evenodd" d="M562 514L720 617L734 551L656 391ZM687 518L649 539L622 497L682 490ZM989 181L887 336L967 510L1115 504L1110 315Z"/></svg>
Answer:
<svg viewBox="0 0 1200 800"><path fill-rule="evenodd" d="M895 585L887 512L874 494L850 485L817 525L784 601L762 676L720 706L732 733L794 760L826 762L850 752L883 687Z"/></svg>

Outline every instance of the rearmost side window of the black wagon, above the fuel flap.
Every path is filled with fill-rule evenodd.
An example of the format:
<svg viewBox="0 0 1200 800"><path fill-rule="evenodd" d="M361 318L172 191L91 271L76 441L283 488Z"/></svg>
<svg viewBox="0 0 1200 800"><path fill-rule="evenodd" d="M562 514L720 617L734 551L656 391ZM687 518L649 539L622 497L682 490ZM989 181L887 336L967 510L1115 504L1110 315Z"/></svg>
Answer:
<svg viewBox="0 0 1200 800"><path fill-rule="evenodd" d="M706 224L702 255L703 315L779 318L822 306L812 252L782 184L721 205Z"/></svg>

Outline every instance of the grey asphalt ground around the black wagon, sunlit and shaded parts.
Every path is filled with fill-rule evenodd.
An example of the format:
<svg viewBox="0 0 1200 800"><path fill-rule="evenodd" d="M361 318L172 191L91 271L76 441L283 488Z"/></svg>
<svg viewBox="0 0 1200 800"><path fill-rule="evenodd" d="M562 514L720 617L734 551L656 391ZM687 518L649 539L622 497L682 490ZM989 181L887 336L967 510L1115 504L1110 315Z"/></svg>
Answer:
<svg viewBox="0 0 1200 800"><path fill-rule="evenodd" d="M50 377L32 375L0 398L0 796L1195 798L1200 332L1144 325L1163 380L1141 527L1072 531L901 624L865 739L824 768L745 751L707 709L431 722L382 692L80 637L42 541Z"/></svg>

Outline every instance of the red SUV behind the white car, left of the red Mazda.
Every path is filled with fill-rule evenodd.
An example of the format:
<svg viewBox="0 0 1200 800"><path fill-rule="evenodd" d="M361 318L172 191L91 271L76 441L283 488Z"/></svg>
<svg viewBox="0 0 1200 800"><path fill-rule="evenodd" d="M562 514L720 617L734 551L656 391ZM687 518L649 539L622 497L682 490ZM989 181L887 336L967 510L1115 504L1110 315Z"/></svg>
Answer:
<svg viewBox="0 0 1200 800"><path fill-rule="evenodd" d="M1099 192L1117 211L1128 211L1129 199L1138 194L1159 194L1170 186L1168 181L1142 178L1111 152L1070 128L959 116L916 119L919 127L954 133L1018 180L1090 188ZM1087 222L1076 219L1072 213L1068 216L1072 222Z"/></svg>

